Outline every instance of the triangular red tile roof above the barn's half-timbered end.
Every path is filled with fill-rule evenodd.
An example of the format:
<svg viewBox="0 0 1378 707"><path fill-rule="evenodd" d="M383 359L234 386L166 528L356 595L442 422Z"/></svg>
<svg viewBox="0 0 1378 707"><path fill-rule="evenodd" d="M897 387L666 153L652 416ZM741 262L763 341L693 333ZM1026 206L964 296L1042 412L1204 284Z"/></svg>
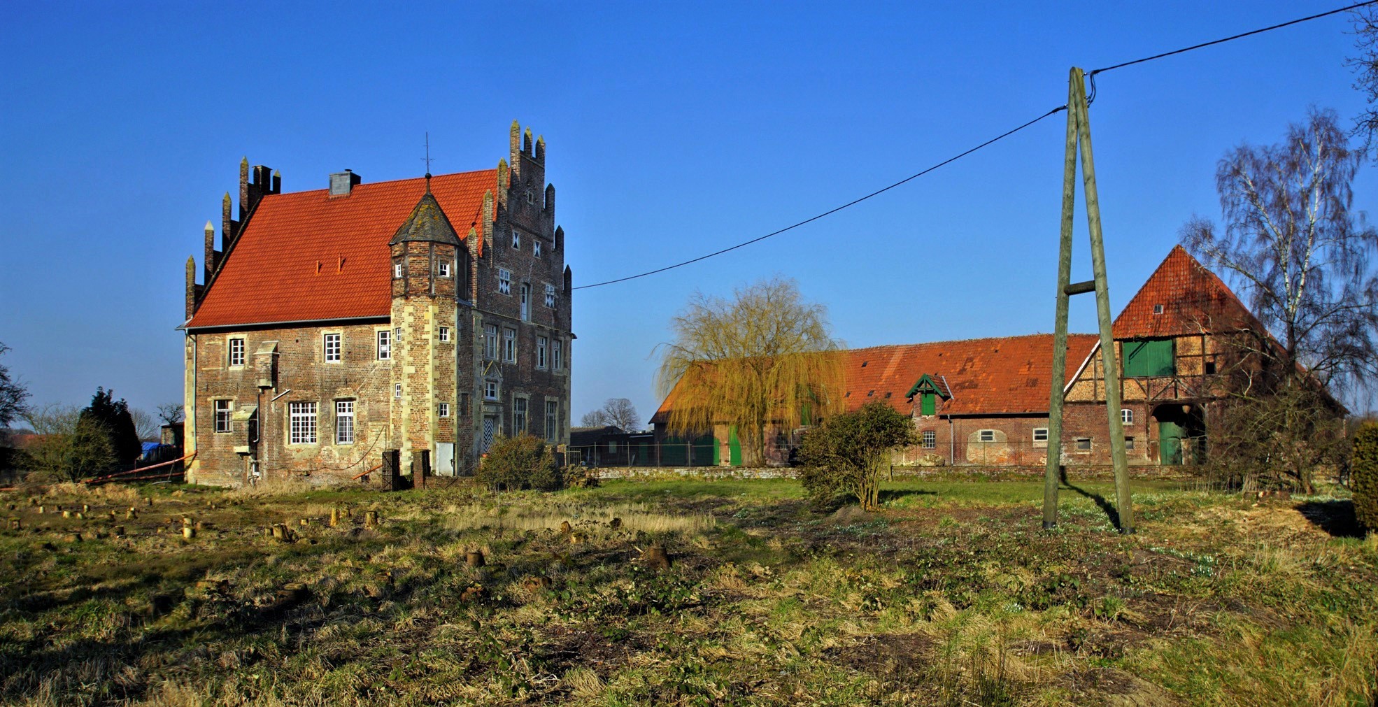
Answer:
<svg viewBox="0 0 1378 707"><path fill-rule="evenodd" d="M1155 305L1162 305L1162 314L1153 314ZM1244 328L1264 331L1215 273L1177 245L1129 300L1111 331L1116 339L1142 339Z"/></svg>

